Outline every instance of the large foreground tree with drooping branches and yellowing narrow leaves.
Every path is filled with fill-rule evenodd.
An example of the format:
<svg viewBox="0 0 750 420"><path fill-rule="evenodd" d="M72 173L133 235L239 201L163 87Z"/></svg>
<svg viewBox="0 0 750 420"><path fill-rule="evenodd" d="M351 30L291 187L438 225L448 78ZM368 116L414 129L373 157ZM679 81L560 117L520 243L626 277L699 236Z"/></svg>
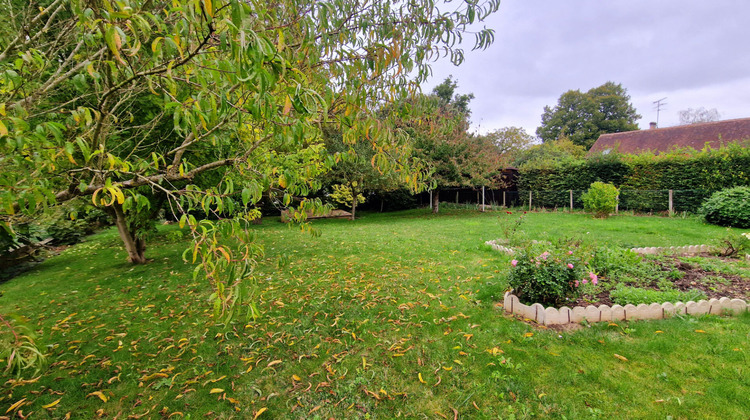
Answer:
<svg viewBox="0 0 750 420"><path fill-rule="evenodd" d="M130 260L157 205L193 234L185 257L215 286L217 312L242 299L258 249L244 223L264 194L291 204L329 167L320 127L366 141L373 162L421 182L404 137L372 115L463 59L456 43L498 0L40 0L0 13L2 225L74 197L113 215ZM493 40L476 32L475 46ZM391 153L393 151L393 153ZM396 158L394 158L396 157ZM296 214L304 217L310 200ZM216 213L220 222L198 215ZM221 242L232 236L230 247Z"/></svg>

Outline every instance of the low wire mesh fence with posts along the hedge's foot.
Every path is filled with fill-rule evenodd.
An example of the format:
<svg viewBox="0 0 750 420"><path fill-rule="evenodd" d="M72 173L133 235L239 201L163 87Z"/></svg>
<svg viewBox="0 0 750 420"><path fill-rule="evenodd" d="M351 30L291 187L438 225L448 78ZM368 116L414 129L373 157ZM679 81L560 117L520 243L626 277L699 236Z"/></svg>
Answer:
<svg viewBox="0 0 750 420"><path fill-rule="evenodd" d="M485 189L444 189L440 192L440 201L463 205L484 204L488 207L526 207L548 209L583 209L583 194L586 190L560 191L505 191ZM709 189L692 190L620 190L618 210L636 213L658 212L696 212L703 202L714 193ZM429 205L427 193L420 200Z"/></svg>

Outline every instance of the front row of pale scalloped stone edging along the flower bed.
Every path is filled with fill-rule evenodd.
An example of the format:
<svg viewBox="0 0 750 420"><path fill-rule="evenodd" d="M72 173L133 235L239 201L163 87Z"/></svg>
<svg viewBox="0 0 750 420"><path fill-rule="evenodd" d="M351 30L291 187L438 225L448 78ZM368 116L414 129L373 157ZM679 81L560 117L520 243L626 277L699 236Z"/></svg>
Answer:
<svg viewBox="0 0 750 420"><path fill-rule="evenodd" d="M524 318L534 320L542 325L564 325L578 324L586 320L587 322L612 322L612 321L633 321L645 319L665 319L676 314L684 315L703 315L703 314L732 314L739 315L743 312L750 311L750 305L742 299L721 299L699 300L698 302L689 301L687 303L664 302L644 303L635 305L601 305L598 308L589 305L587 307L576 306L568 308L545 308L540 303L531 306L521 303L518 297L510 292L505 292L503 298L503 307L505 312L520 315Z"/></svg>

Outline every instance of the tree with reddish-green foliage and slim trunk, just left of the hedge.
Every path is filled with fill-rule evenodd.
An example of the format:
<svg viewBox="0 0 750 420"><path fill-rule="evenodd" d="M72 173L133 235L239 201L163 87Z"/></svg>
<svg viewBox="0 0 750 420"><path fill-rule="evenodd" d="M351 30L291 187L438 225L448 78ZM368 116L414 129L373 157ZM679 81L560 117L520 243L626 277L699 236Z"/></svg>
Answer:
<svg viewBox="0 0 750 420"><path fill-rule="evenodd" d="M456 93L451 77L408 107L405 126L414 138L415 156L430 169L432 212L438 213L446 187L490 185L500 169L499 153L486 136L469 133L472 94Z"/></svg>

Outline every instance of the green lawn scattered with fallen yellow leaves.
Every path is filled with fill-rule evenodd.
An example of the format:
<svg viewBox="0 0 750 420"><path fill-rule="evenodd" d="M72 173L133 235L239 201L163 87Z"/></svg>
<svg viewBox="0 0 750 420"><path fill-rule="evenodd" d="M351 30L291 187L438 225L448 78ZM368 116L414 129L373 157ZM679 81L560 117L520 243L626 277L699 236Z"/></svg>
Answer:
<svg viewBox="0 0 750 420"><path fill-rule="evenodd" d="M505 287L509 262L483 243L518 213L367 214L316 221L317 238L268 219L256 227L266 247L255 272L263 314L227 327L212 324L210 287L181 261L176 227L161 230L146 266L125 263L113 231L90 237L0 285L0 312L29 317L51 363L39 378L4 383L0 413L24 398L17 409L34 418L750 412L748 315L556 331L479 300L487 283ZM725 233L697 219L524 217L530 237L609 245L698 244Z"/></svg>

